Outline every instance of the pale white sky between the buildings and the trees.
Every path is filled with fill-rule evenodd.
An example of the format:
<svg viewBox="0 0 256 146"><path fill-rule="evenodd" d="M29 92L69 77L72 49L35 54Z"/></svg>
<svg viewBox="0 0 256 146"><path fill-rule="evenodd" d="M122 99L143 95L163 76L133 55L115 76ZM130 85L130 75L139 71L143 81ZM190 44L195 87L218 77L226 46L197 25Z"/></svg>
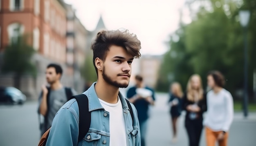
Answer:
<svg viewBox="0 0 256 146"><path fill-rule="evenodd" d="M128 29L141 41L141 55L162 55L178 29L185 0L65 0L76 9L85 28L93 31L100 15L106 29Z"/></svg>

